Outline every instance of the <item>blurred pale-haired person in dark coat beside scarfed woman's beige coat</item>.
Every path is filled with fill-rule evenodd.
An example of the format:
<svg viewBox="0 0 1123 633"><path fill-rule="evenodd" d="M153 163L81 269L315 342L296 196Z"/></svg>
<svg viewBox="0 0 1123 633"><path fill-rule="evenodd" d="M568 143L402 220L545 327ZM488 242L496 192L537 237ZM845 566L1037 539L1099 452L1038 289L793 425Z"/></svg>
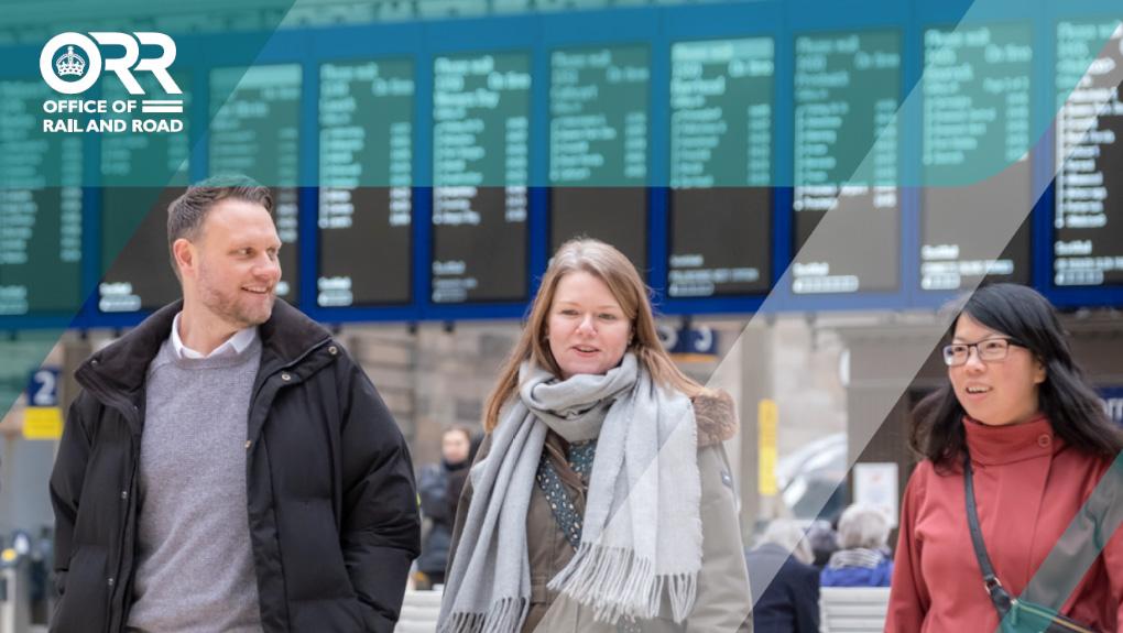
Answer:
<svg viewBox="0 0 1123 633"><path fill-rule="evenodd" d="M749 581L757 593L755 633L818 633L819 570L803 528L791 519L768 524L746 554Z"/></svg>

